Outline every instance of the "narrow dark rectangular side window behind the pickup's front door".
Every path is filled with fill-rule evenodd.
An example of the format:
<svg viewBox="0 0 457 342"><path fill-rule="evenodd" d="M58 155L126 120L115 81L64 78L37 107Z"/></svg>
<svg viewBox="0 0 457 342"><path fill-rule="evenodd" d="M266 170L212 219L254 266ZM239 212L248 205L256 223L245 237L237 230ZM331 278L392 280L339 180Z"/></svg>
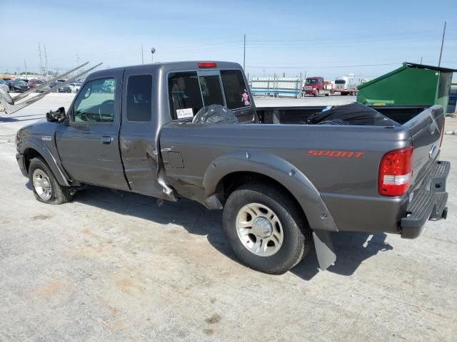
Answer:
<svg viewBox="0 0 457 342"><path fill-rule="evenodd" d="M127 82L127 121L151 121L151 103L152 76L130 76Z"/></svg>

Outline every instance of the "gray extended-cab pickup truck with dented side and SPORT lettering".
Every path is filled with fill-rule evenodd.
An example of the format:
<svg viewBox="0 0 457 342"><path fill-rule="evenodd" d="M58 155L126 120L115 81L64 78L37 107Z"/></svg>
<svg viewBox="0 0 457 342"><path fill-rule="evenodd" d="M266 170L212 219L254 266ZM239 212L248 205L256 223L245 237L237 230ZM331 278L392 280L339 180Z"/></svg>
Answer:
<svg viewBox="0 0 457 342"><path fill-rule="evenodd" d="M236 124L193 123L223 105ZM256 108L241 66L156 63L91 73L70 108L21 128L17 161L40 202L83 185L224 209L234 254L281 274L331 232L417 237L446 218L443 108L376 108L398 125L304 125L322 108ZM55 114L55 113L54 113Z"/></svg>

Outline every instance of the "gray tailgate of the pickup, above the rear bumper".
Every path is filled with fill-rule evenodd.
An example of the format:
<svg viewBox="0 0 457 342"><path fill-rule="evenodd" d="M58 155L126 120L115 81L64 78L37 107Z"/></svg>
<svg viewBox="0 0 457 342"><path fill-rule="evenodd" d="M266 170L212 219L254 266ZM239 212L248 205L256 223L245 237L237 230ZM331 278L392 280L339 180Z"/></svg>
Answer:
<svg viewBox="0 0 457 342"><path fill-rule="evenodd" d="M441 105L423 110L403 125L411 131L413 142L413 175L411 190L418 187L424 175L433 167L439 155L444 130L444 112Z"/></svg>

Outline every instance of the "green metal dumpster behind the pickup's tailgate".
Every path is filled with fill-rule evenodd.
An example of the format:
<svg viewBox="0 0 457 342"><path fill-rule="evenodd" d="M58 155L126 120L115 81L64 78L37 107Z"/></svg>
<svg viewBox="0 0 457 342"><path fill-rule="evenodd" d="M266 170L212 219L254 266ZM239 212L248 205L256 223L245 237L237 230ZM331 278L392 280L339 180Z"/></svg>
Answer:
<svg viewBox="0 0 457 342"><path fill-rule="evenodd" d="M403 63L400 68L358 86L365 105L442 105L448 107L452 73L457 70Z"/></svg>

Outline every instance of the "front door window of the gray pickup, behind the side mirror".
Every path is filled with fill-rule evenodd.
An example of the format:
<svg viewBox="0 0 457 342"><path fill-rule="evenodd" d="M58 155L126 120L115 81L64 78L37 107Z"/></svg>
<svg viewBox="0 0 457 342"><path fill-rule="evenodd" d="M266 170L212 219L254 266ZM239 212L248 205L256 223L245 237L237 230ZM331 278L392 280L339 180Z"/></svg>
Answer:
<svg viewBox="0 0 457 342"><path fill-rule="evenodd" d="M79 92L73 108L75 123L112 123L114 121L114 78L89 81Z"/></svg>

